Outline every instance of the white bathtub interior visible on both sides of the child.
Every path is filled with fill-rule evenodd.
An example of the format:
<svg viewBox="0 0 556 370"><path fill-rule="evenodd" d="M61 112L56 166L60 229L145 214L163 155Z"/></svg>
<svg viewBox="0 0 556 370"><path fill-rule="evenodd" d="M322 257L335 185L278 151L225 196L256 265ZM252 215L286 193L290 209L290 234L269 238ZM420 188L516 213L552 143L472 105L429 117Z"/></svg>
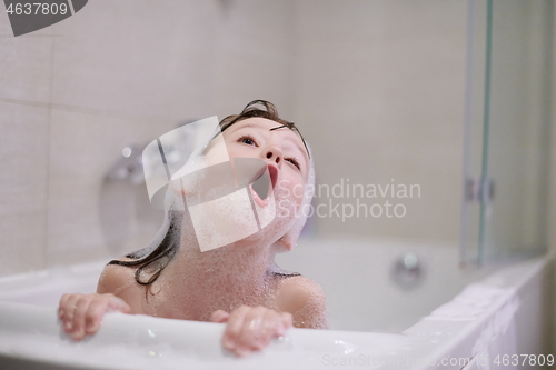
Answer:
<svg viewBox="0 0 556 370"><path fill-rule="evenodd" d="M415 253L423 276L413 288L393 279L396 261ZM318 282L327 297L331 329L399 333L451 299L486 270L457 267L455 246L389 239L305 239L277 263ZM3 278L0 299L56 307L64 292L93 292L107 261L58 266Z"/></svg>

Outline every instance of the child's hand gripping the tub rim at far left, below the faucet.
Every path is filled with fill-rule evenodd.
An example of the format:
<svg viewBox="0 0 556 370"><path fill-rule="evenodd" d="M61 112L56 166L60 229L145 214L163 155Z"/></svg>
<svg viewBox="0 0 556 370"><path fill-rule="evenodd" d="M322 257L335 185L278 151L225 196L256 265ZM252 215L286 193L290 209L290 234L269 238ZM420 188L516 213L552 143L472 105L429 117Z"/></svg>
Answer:
<svg viewBox="0 0 556 370"><path fill-rule="evenodd" d="M96 333L106 312L129 313L131 308L122 299L111 294L63 294L58 308L58 317L63 331L75 340Z"/></svg>

